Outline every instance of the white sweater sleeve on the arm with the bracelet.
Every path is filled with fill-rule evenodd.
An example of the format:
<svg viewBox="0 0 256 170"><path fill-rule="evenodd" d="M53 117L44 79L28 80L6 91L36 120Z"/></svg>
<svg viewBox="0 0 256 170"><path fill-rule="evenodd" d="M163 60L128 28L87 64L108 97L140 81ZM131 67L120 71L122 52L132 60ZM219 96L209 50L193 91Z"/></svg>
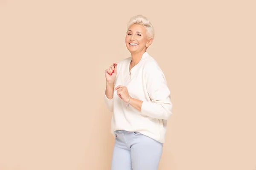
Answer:
<svg viewBox="0 0 256 170"><path fill-rule="evenodd" d="M141 113L155 119L167 120L172 114L172 102L163 71L154 63L145 70L144 78L151 102L143 101Z"/></svg>

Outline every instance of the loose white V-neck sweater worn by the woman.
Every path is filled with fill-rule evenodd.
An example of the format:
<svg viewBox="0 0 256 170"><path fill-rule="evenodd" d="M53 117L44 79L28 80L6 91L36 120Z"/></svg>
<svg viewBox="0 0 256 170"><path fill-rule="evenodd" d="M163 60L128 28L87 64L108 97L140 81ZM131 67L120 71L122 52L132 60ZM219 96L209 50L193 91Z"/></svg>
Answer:
<svg viewBox="0 0 256 170"><path fill-rule="evenodd" d="M105 95L105 103L113 111L111 133L115 130L137 131L164 143L166 136L167 119L172 114L170 91L166 78L156 60L147 52L140 62L129 72L131 57L117 64L115 86L123 85L128 89L132 98L143 101L141 111L133 108L114 91L113 98Z"/></svg>

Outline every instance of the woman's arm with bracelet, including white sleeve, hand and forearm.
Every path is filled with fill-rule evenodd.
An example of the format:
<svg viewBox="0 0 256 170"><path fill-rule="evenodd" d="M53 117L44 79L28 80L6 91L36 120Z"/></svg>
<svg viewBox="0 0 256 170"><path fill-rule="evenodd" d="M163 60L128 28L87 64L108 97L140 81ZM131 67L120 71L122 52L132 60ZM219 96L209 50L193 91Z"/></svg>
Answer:
<svg viewBox="0 0 256 170"><path fill-rule="evenodd" d="M158 65L151 66L145 72L144 78L151 102L130 97L130 105L141 111L145 116L167 120L172 114L172 103L170 102L170 91L164 74ZM119 85L114 90L117 90L117 95L124 102L129 102L127 87Z"/></svg>

